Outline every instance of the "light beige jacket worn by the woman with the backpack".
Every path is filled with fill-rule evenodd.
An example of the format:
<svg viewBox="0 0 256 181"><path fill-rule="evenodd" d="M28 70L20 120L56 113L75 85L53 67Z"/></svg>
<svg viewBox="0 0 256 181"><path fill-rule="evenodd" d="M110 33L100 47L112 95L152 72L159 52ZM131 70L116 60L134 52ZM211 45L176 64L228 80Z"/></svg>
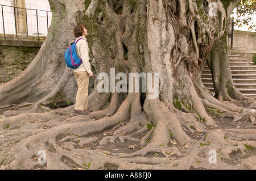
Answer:
<svg viewBox="0 0 256 181"><path fill-rule="evenodd" d="M79 40L76 44L76 53L79 56L79 58L82 59L82 64L79 66L79 68L74 69L74 72L77 71L87 71L88 74L90 72L92 72L92 70L90 70L90 62L89 62L89 46L87 43L87 39L85 37L78 37L76 40L78 39L84 39L84 40Z"/></svg>

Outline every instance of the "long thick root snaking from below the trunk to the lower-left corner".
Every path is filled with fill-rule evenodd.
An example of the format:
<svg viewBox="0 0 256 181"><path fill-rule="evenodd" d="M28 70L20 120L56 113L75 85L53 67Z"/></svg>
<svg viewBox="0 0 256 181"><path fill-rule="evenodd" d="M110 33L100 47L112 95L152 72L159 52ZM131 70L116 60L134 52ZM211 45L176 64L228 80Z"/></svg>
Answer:
<svg viewBox="0 0 256 181"><path fill-rule="evenodd" d="M93 132L104 131L105 129L107 129L109 127L113 127L113 125L118 124L119 121L129 119L129 112L128 112L129 104L127 103L127 101L123 102L120 108L121 108L121 111L117 111L117 113L115 113L115 115L113 117L105 117L101 120L93 121L92 123L90 123L90 122L67 123L64 125L51 127L51 129L49 129L47 131L40 132L38 134L34 134L31 137L22 139L19 142L19 144L17 145L19 148L18 150L20 150L20 153L19 153L20 155L18 156L18 158L16 158L14 155L12 160L15 159L15 161L11 162L9 169L13 168L16 164L18 164L19 166L22 167L23 159L28 159L29 157L32 158L32 155L36 154L36 151L38 151L39 147L42 149L49 149L49 148L47 148L47 144L46 144L46 146L44 146L45 145L44 143L46 143L47 141L49 142L49 140L51 140L49 142L49 145L55 144L56 141L55 141L54 137L56 137L60 133L78 134L81 136L88 135L88 134L92 134ZM125 115L127 115L127 116L125 116ZM14 118L16 118L16 117L20 118L20 116L27 117L27 115L23 114L23 115L15 116ZM38 117L36 117L36 119L38 119ZM5 129L5 128L3 128L3 129ZM19 130L19 132L20 132L20 130ZM3 131L3 135L5 137L5 131ZM42 144L40 144L40 143L42 143ZM14 148L12 148L13 153L16 153L16 151L18 151L16 149L17 149L16 146ZM3 151L3 153L5 153L5 151ZM28 153L30 153L30 154L28 154ZM4 157L6 157L6 156L7 155L4 154L1 157L4 159Z"/></svg>

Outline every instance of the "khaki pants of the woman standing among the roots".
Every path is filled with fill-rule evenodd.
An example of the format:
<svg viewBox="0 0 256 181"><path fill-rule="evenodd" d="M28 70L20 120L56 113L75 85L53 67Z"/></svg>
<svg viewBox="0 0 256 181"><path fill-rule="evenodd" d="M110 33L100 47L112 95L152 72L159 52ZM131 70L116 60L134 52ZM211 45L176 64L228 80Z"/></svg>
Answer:
<svg viewBox="0 0 256 181"><path fill-rule="evenodd" d="M88 109L89 74L87 71L78 71L74 74L79 88L76 94L75 110L85 111Z"/></svg>

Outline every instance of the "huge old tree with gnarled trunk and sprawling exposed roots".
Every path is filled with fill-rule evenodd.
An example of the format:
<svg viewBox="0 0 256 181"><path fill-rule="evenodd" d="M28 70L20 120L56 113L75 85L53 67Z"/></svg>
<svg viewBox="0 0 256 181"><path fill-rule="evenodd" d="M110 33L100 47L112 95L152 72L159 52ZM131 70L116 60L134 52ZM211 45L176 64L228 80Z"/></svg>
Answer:
<svg viewBox="0 0 256 181"><path fill-rule="evenodd" d="M40 166L47 169L70 165L87 169L109 165L125 169L255 168L251 157L237 166L223 162L220 156L216 164L210 164L207 156L215 150L228 159L231 153L243 152L244 145L255 147L255 129L218 129L209 116L214 112L234 122L256 116L254 109L234 103L249 98L233 86L226 54L227 17L238 2L49 0L52 24L46 41L27 69L0 87L2 110L12 109L0 119L1 169L36 168L39 150L46 151L47 163ZM86 38L94 72L89 107L93 112L75 116L74 106L50 110L47 105L75 102L77 85L65 65L64 50L74 40L72 28L81 23L89 32ZM218 99L200 78L206 62ZM110 85L113 80L114 85L120 83L118 73L126 73L126 78L129 73L152 73L159 75L152 81L158 89L100 92L102 80L97 75L111 75L110 68L115 70L114 79L105 77ZM127 81L126 86L122 90L133 85ZM159 96L152 99L152 94ZM196 133L201 133L199 140L191 136ZM131 153L113 147L112 155L100 151L105 145L118 147L123 142L131 145ZM152 159L151 153L166 159Z"/></svg>

